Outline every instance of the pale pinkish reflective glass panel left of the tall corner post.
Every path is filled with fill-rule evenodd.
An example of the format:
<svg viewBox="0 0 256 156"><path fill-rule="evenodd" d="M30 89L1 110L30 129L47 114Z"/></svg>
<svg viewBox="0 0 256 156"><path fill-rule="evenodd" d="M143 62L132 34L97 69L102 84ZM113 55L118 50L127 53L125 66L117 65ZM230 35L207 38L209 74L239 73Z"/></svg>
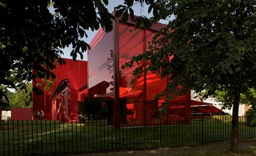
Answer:
<svg viewBox="0 0 256 156"><path fill-rule="evenodd" d="M113 31L88 53L89 96L113 95Z"/></svg>

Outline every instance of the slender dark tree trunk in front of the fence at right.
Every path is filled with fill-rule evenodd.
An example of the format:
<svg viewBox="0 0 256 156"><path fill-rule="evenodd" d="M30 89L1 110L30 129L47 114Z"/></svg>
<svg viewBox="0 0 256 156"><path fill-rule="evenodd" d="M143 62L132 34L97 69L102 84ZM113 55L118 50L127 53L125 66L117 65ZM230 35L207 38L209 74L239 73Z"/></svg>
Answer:
<svg viewBox="0 0 256 156"><path fill-rule="evenodd" d="M232 131L231 131L231 148L232 152L238 150L238 111L239 111L240 91L236 88L234 92L233 115L232 115Z"/></svg>

